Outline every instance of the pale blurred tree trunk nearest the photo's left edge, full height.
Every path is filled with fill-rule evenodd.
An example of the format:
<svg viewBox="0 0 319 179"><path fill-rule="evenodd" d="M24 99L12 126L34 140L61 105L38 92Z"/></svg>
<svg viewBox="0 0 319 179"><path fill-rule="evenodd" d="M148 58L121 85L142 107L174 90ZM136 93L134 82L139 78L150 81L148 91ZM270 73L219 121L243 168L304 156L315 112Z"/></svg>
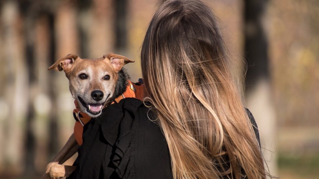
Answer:
<svg viewBox="0 0 319 179"><path fill-rule="evenodd" d="M18 98L26 95L21 91L21 86L25 78L25 71L23 58L21 57L21 44L19 39L21 38L21 31L19 26L19 10L16 2L6 1L2 2L1 22L2 22L2 40L3 40L3 58L2 66L4 67L4 97L2 100L7 104L8 109L1 109L4 117L3 126L1 126L1 133L4 134L4 142L1 143L1 147L4 147L4 168L6 172L14 171L14 168L19 166L20 159L20 140L19 139L19 118L21 118L21 110L18 104L24 104L24 99ZM20 70L20 71L19 71ZM22 84L19 84L19 83ZM19 88L20 87L20 88ZM19 89L18 89L19 88ZM19 95L17 92L20 92ZM22 100L22 101L21 101ZM5 106L6 107L6 106ZM19 111L19 113L17 112ZM1 134L0 134L1 135ZM0 150L1 151L1 150ZM17 170L16 170L17 171Z"/></svg>

